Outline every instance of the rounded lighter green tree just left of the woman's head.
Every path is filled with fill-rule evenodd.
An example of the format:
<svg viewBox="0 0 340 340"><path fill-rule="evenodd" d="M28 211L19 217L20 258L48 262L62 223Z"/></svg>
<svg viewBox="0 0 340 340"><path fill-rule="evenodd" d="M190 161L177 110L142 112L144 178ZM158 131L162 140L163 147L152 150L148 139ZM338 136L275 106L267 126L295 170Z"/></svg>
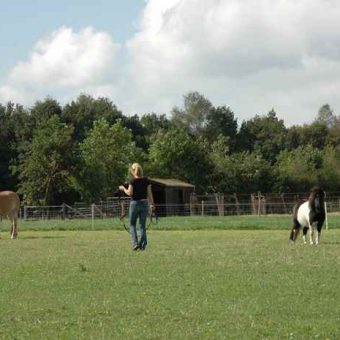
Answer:
<svg viewBox="0 0 340 340"><path fill-rule="evenodd" d="M111 196L126 180L129 163L142 157L131 131L121 121L110 125L104 118L94 122L80 145L80 153L82 170L78 187L82 197L92 201Z"/></svg>

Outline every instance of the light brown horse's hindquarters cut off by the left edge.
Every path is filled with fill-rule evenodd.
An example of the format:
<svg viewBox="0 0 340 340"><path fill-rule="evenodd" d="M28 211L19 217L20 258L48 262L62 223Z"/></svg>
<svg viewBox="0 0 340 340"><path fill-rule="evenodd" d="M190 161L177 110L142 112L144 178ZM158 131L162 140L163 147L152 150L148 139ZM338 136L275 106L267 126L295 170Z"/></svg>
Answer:
<svg viewBox="0 0 340 340"><path fill-rule="evenodd" d="M20 198L13 191L0 191L0 216L7 216L11 222L11 238L18 235L17 220L20 209Z"/></svg>

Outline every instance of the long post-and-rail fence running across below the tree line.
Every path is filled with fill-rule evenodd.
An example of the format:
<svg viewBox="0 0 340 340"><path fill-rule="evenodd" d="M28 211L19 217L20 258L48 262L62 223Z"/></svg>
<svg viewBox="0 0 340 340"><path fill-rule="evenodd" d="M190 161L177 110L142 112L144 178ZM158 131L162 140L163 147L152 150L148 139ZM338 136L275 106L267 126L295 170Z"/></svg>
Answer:
<svg viewBox="0 0 340 340"><path fill-rule="evenodd" d="M298 200L306 200L305 193L295 194L207 194L193 195L190 203L156 205L158 216L230 216L291 214ZM327 211L340 212L340 193L327 193ZM108 198L96 204L77 202L74 205L23 206L20 218L38 219L81 219L120 217L128 210L128 200Z"/></svg>

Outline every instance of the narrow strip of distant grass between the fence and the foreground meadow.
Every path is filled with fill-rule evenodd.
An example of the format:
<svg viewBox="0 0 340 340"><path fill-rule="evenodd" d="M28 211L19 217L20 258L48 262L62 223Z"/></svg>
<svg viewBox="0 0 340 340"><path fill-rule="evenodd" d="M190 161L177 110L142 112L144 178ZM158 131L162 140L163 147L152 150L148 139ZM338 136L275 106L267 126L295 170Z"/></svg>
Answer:
<svg viewBox="0 0 340 340"><path fill-rule="evenodd" d="M125 224L128 225L127 219ZM330 229L340 228L340 215L329 215ZM292 217L289 215L266 216L187 216L161 217L157 224L151 224L150 230L289 230ZM19 221L19 230L124 230L119 218L66 219ZM9 230L8 221L3 220L1 230Z"/></svg>

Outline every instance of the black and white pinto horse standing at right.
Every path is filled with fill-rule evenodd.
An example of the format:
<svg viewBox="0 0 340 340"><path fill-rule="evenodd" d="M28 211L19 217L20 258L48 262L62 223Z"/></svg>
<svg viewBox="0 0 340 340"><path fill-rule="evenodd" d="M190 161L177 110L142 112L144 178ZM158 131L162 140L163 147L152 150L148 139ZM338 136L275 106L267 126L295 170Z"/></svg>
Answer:
<svg viewBox="0 0 340 340"><path fill-rule="evenodd" d="M325 197L326 194L321 188L314 187L310 191L308 201L299 202L295 205L293 209L293 228L290 233L290 239L293 242L296 240L300 228L303 227L303 243L307 243L306 235L309 230L309 243L319 244L321 229L326 219ZM317 227L315 241L313 240L314 224Z"/></svg>

